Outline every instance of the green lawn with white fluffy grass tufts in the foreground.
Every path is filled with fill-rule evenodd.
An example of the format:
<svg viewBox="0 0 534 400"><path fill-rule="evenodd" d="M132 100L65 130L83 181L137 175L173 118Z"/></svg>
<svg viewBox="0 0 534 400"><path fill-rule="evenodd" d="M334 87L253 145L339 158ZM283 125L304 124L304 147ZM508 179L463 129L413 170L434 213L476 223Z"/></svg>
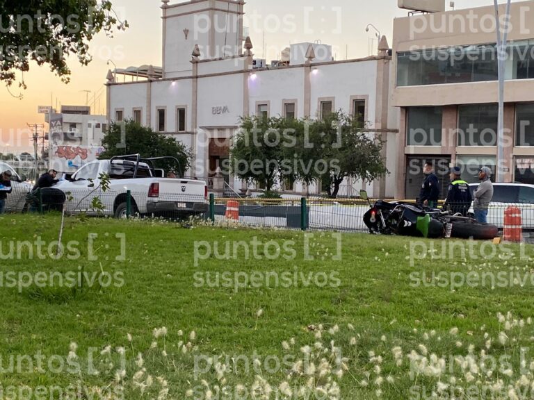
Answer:
<svg viewBox="0 0 534 400"><path fill-rule="evenodd" d="M533 398L528 246L0 224L1 399Z"/></svg>

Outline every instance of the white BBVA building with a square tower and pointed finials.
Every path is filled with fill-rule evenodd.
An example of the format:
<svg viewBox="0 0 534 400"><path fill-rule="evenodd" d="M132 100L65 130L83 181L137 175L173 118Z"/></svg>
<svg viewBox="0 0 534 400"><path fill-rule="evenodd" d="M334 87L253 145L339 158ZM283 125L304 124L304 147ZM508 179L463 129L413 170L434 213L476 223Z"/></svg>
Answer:
<svg viewBox="0 0 534 400"><path fill-rule="evenodd" d="M302 43L268 66L254 59L252 43L243 37L244 1L162 3L163 67L108 72L108 119L135 119L174 136L193 151L191 174L206 178L229 158L240 117L321 117L342 109L362 115L369 131L387 140L384 156L388 169L394 169L398 114L389 104L391 55L385 38L378 56L337 61L329 46ZM118 74L136 80L119 82ZM391 197L395 182L388 176L366 188L375 196ZM229 186L246 190L234 179ZM355 194L362 183L348 187ZM316 192L298 184L289 189Z"/></svg>

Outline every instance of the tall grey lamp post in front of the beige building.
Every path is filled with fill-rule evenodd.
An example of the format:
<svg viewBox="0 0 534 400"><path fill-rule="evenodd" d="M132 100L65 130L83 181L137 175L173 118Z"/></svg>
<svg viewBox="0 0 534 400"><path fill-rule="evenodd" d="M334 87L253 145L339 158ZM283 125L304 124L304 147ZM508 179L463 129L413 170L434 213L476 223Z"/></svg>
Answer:
<svg viewBox="0 0 534 400"><path fill-rule="evenodd" d="M510 2L506 4L505 22L510 18ZM494 0L495 7L495 25L497 33L497 56L499 68L499 124L497 132L497 182L504 182L504 77L506 69L506 44L508 43L508 24L505 26L505 31L501 35L501 19L499 17L499 3Z"/></svg>

